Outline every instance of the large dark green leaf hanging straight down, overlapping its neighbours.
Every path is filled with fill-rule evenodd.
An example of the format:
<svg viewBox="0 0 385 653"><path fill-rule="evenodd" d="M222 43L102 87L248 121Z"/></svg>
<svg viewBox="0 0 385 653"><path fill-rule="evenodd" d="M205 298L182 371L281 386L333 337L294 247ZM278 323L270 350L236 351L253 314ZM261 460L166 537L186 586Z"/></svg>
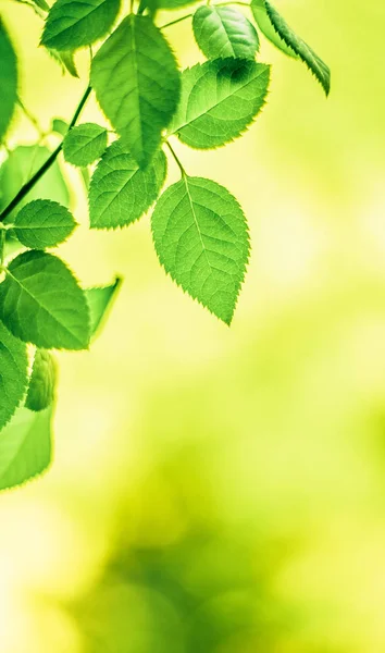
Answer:
<svg viewBox="0 0 385 653"><path fill-rule="evenodd" d="M179 73L149 16L127 16L94 59L91 85L140 168L161 143L179 98Z"/></svg>

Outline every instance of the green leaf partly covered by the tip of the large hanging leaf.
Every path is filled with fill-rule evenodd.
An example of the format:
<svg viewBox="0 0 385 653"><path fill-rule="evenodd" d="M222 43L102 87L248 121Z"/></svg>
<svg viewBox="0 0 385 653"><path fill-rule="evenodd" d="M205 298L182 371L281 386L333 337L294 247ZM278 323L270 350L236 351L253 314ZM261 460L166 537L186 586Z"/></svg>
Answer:
<svg viewBox="0 0 385 653"><path fill-rule="evenodd" d="M122 140L115 140L99 162L89 187L92 229L115 229L138 220L156 201L164 183L166 160L157 152L141 170Z"/></svg>

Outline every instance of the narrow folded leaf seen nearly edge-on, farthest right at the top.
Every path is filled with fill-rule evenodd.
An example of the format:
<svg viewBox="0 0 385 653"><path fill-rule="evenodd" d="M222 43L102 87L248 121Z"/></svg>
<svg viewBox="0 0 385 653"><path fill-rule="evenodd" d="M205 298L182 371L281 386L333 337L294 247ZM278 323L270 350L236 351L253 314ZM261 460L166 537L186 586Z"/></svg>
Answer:
<svg viewBox="0 0 385 653"><path fill-rule="evenodd" d="M318 54L315 54L310 46L293 32L286 21L278 14L274 7L268 2L268 0L264 0L264 5L269 20L277 35L307 64L308 69L320 82L327 96L331 90L331 71L328 66Z"/></svg>

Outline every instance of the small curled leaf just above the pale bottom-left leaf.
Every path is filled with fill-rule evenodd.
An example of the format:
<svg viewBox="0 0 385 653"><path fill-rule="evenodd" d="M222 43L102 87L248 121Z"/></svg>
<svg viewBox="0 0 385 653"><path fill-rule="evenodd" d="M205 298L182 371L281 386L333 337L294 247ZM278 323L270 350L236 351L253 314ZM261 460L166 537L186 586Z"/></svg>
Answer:
<svg viewBox="0 0 385 653"><path fill-rule="evenodd" d="M50 352L36 349L25 407L38 412L53 403L57 386L57 361Z"/></svg>

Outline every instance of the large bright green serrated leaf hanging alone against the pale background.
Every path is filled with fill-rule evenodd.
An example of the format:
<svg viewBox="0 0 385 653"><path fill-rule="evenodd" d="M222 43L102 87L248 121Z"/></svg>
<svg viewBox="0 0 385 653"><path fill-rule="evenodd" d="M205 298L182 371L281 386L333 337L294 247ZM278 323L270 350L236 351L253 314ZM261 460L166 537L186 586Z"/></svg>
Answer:
<svg viewBox="0 0 385 653"><path fill-rule="evenodd" d="M158 200L152 234L165 271L229 324L249 257L247 223L237 200L210 180L184 175Z"/></svg>

